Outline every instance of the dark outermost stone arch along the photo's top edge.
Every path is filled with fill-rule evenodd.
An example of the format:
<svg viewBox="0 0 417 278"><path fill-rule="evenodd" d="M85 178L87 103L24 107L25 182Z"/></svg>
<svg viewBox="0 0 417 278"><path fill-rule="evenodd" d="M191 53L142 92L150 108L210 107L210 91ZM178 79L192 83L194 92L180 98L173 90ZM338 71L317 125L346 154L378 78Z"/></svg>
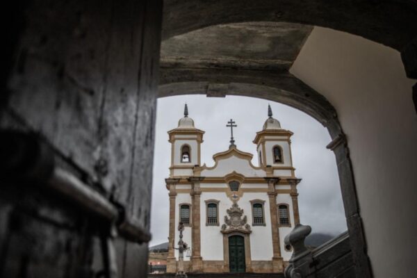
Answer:
<svg viewBox="0 0 417 278"><path fill-rule="evenodd" d="M417 3L411 0L165 0L162 38L217 24L293 22L360 35L401 51L417 37L416 12Z"/></svg>

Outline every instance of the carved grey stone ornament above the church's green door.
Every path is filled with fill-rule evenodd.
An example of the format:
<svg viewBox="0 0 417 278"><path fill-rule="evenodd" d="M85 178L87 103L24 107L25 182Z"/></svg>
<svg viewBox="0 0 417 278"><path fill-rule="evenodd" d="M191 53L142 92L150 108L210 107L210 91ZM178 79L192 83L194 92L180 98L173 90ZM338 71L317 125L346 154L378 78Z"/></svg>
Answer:
<svg viewBox="0 0 417 278"><path fill-rule="evenodd" d="M252 231L250 225L247 224L247 217L243 215L243 209L239 208L238 203L234 202L231 208L227 210L227 215L224 216L225 224L222 224L221 232L223 234L239 231L245 234L250 234Z"/></svg>

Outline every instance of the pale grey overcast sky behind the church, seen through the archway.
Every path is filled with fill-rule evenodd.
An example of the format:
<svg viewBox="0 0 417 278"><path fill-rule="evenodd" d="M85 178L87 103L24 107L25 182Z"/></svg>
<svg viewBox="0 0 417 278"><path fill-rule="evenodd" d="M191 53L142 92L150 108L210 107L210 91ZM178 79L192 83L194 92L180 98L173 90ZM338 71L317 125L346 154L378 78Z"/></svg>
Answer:
<svg viewBox="0 0 417 278"><path fill-rule="evenodd" d="M208 98L204 95L185 95L158 99L156 114L156 142L154 180L152 189L151 231L149 246L167 241L169 199L165 178L169 177L171 146L167 131L178 126L183 117L184 104L195 127L206 131L202 143L202 165L213 166L213 154L229 148L230 119L238 125L234 129L235 144L243 152L254 154L252 163L258 165L256 131L261 131L268 117L268 103L273 117L283 129L293 131L291 147L295 176L302 179L297 186L300 222L309 224L313 232L338 234L346 230L346 222L334 154L326 149L331 141L327 129L309 115L295 108L273 101L250 97ZM161 173L164 174L161 176Z"/></svg>

